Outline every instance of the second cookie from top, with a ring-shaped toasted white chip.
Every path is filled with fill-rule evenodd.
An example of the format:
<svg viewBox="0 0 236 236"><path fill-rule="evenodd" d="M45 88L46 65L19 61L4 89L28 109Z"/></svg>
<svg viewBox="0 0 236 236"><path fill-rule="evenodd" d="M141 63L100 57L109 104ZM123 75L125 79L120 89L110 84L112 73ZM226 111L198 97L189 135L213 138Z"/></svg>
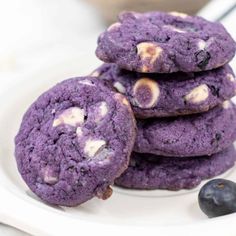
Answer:
<svg viewBox="0 0 236 236"><path fill-rule="evenodd" d="M132 105L136 117L167 117L200 113L235 95L229 65L198 73L142 74L103 64L92 75L113 83Z"/></svg>

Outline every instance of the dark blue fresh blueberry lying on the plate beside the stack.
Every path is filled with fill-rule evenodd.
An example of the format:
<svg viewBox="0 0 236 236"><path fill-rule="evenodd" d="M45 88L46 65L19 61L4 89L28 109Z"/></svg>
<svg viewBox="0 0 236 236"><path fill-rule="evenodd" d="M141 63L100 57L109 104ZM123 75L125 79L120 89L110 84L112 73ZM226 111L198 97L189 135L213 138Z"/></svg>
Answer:
<svg viewBox="0 0 236 236"><path fill-rule="evenodd" d="M208 217L236 212L236 183L226 179L214 179L200 190L198 203Z"/></svg>

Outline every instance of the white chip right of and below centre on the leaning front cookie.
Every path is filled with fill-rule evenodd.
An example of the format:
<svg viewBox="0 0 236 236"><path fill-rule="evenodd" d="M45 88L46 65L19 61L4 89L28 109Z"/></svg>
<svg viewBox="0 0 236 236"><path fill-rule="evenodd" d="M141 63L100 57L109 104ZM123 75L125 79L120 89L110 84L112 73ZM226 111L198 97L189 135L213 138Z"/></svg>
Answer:
<svg viewBox="0 0 236 236"><path fill-rule="evenodd" d="M105 148L105 146L106 146L106 142L104 140L89 139L85 143L84 153L89 158L92 158L96 154L98 154L100 151L102 151L102 149Z"/></svg>

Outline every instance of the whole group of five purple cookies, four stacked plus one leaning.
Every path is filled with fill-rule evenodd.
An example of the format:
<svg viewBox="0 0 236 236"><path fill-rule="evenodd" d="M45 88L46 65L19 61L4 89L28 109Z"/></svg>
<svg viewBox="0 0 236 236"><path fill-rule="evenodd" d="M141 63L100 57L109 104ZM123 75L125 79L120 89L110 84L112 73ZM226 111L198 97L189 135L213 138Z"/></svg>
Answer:
<svg viewBox="0 0 236 236"><path fill-rule="evenodd" d="M178 190L225 172L236 160L235 50L222 25L199 17L121 14L98 40L106 63L23 116L15 157L25 183L47 203L76 206L109 198L114 182Z"/></svg>

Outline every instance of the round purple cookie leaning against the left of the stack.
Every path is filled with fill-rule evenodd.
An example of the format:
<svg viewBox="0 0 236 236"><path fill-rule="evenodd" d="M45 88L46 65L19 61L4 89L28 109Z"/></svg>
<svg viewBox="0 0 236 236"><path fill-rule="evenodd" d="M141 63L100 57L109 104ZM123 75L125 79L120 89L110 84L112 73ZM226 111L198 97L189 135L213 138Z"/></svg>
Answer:
<svg viewBox="0 0 236 236"><path fill-rule="evenodd" d="M20 174L50 204L75 206L112 194L127 168L135 120L126 98L92 77L66 80L41 95L15 138Z"/></svg>

